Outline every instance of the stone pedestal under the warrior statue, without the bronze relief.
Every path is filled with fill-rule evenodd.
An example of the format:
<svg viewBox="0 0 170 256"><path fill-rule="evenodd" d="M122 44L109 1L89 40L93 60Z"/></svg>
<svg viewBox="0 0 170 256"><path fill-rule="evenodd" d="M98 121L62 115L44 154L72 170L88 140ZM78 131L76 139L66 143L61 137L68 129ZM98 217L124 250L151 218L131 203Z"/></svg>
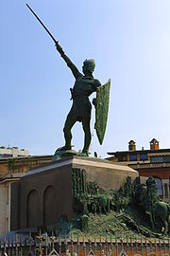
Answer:
<svg viewBox="0 0 170 256"><path fill-rule="evenodd" d="M109 160L72 156L30 170L11 188L11 230L53 226L61 215L68 220L73 211L72 169L85 170L88 181L104 189L118 190L127 175L138 172Z"/></svg>

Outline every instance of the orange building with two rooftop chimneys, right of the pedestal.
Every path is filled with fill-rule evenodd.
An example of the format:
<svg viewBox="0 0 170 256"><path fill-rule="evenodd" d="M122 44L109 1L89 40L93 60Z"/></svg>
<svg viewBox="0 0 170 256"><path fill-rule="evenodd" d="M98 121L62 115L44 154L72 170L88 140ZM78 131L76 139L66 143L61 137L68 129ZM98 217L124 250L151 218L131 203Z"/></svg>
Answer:
<svg viewBox="0 0 170 256"><path fill-rule="evenodd" d="M160 149L159 141L153 138L150 149L136 150L136 142L128 142L128 151L110 152L113 162L123 162L139 172L141 182L153 176L157 182L160 197L170 203L170 149Z"/></svg>

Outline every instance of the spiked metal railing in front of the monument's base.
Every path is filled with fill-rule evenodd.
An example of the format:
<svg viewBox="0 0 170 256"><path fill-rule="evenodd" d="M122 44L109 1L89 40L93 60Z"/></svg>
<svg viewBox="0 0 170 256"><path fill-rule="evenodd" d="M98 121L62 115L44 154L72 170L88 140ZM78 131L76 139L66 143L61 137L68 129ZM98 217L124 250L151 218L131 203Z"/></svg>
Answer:
<svg viewBox="0 0 170 256"><path fill-rule="evenodd" d="M149 256L169 255L170 240L144 237L55 237L31 234L1 238L0 256Z"/></svg>

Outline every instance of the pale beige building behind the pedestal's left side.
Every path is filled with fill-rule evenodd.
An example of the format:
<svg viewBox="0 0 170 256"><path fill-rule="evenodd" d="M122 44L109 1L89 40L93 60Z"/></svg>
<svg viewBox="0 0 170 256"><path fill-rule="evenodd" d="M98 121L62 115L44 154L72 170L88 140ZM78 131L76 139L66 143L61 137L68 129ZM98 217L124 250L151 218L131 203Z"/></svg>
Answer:
<svg viewBox="0 0 170 256"><path fill-rule="evenodd" d="M10 230L11 184L19 181L28 170L49 164L52 157L29 155L27 151L16 148L0 149L0 235Z"/></svg>

